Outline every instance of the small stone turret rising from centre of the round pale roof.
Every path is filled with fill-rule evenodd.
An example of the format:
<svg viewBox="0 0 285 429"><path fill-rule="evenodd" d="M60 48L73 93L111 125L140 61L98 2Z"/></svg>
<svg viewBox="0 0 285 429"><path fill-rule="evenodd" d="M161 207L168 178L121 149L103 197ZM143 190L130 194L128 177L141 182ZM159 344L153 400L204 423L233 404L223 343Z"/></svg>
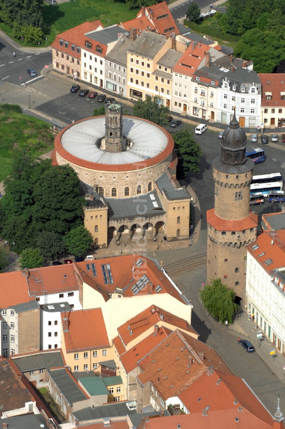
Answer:
<svg viewBox="0 0 285 429"><path fill-rule="evenodd" d="M121 152L123 150L123 109L118 103L106 104L105 151Z"/></svg>

